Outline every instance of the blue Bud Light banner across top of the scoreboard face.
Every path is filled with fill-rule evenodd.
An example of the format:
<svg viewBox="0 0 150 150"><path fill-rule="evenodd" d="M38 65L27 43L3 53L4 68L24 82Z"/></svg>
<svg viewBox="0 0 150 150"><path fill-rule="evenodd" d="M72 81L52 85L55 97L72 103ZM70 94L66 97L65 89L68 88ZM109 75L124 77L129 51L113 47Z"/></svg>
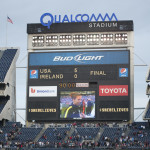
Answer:
<svg viewBox="0 0 150 150"><path fill-rule="evenodd" d="M30 53L29 66L129 64L129 51Z"/></svg>

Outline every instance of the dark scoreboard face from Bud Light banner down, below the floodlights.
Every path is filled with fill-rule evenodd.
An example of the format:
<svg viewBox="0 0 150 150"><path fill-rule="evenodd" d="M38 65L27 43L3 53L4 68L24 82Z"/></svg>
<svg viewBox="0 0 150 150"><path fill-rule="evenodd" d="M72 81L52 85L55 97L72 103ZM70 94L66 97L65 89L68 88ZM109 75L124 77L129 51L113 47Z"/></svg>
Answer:
<svg viewBox="0 0 150 150"><path fill-rule="evenodd" d="M130 51L28 54L27 120L130 120Z"/></svg>

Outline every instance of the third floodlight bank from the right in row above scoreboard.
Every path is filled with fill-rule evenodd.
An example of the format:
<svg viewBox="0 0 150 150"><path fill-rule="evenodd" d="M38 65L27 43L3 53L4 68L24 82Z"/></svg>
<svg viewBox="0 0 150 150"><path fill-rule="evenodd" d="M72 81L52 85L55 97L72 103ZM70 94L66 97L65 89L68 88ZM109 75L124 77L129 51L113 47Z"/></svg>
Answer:
<svg viewBox="0 0 150 150"><path fill-rule="evenodd" d="M88 34L87 45L99 45L99 34Z"/></svg>

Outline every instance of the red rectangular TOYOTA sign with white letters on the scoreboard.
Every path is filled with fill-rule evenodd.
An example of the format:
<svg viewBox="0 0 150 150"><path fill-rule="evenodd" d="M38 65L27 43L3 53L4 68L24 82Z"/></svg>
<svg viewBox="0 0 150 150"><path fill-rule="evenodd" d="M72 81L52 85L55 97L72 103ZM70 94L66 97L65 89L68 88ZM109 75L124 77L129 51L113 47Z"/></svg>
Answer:
<svg viewBox="0 0 150 150"><path fill-rule="evenodd" d="M100 85L99 96L128 96L128 85Z"/></svg>

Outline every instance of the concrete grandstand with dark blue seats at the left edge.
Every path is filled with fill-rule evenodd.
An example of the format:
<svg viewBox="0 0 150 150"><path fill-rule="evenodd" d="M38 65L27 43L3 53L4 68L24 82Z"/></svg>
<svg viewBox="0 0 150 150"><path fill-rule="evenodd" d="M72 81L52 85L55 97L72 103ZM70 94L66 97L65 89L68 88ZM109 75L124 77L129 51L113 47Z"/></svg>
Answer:
<svg viewBox="0 0 150 150"><path fill-rule="evenodd" d="M15 121L16 61L19 49L0 50L0 121ZM9 98L8 98L9 97Z"/></svg>

